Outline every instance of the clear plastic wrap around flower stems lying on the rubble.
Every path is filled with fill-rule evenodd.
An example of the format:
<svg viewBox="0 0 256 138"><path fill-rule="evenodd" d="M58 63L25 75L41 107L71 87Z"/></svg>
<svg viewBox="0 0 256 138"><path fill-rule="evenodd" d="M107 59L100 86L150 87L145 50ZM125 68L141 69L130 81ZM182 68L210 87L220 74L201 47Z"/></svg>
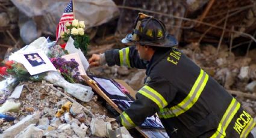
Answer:
<svg viewBox="0 0 256 138"><path fill-rule="evenodd" d="M69 83L57 71L48 71L43 79L64 88L67 93L81 101L87 102L92 99L92 88L79 83Z"/></svg>

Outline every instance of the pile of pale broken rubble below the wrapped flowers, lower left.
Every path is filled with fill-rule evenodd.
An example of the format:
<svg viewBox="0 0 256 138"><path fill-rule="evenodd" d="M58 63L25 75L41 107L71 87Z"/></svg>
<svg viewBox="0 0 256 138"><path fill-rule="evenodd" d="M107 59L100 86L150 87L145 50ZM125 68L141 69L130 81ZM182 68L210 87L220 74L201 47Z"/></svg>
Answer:
<svg viewBox="0 0 256 138"><path fill-rule="evenodd" d="M93 113L90 115L80 103L63 97L62 88L52 89L51 83L21 82L20 85L24 86L19 99L5 102L19 106L5 112L13 116L14 121L0 119L0 137L106 137L106 128L112 129L113 119L107 116L107 110L97 101L96 95L90 102L81 103ZM130 136L125 128L121 131L123 136Z"/></svg>

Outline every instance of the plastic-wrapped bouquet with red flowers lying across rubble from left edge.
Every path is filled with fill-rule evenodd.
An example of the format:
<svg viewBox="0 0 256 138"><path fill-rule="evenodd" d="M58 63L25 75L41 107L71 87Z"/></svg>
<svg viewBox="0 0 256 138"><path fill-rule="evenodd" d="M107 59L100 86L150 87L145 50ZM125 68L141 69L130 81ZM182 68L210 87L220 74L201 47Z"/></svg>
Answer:
<svg viewBox="0 0 256 138"><path fill-rule="evenodd" d="M8 63L8 64L6 64ZM20 63L14 61L5 62L4 66L0 67L1 76L14 77L18 80L33 80L41 81L46 80L53 85L60 86L64 90L78 98L81 101L90 101L93 96L92 88L78 83L67 82L58 71L48 71L31 76L27 69Z"/></svg>

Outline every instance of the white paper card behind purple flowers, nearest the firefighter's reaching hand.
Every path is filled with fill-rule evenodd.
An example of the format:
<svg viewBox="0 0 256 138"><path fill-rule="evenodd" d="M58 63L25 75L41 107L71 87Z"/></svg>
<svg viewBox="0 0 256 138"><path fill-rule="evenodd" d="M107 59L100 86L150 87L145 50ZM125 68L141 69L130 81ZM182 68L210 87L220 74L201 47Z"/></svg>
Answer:
<svg viewBox="0 0 256 138"><path fill-rule="evenodd" d="M64 58L67 61L71 61L71 59L75 59L75 61L78 62L78 70L80 72L80 75L86 75L86 71L84 70L83 64L81 62L81 59L78 53L70 53L69 55L61 56L61 58Z"/></svg>

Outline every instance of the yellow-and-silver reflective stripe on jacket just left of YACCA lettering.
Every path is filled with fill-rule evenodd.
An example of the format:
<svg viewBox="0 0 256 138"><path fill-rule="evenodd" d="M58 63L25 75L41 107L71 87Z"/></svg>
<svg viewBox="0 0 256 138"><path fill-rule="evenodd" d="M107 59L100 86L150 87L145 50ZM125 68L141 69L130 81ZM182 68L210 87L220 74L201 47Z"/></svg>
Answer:
<svg viewBox="0 0 256 138"><path fill-rule="evenodd" d="M233 98L233 100L228 106L228 109L226 109L226 112L224 113L222 119L220 120L217 131L213 134L213 136L211 136L211 138L226 136L226 128L228 127L231 120L234 118L234 115L236 115L239 108L240 103L238 103L236 99Z"/></svg>

